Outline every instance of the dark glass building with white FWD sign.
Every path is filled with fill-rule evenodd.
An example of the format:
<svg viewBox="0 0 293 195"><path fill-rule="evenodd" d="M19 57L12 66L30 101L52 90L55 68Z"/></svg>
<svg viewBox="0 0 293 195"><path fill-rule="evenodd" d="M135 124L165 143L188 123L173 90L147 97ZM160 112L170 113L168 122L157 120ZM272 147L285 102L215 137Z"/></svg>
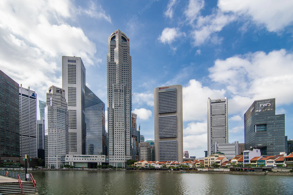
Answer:
<svg viewBox="0 0 293 195"><path fill-rule="evenodd" d="M275 114L275 98L257 100L244 114L244 147L257 147L262 155L277 155L285 149L285 115Z"/></svg>

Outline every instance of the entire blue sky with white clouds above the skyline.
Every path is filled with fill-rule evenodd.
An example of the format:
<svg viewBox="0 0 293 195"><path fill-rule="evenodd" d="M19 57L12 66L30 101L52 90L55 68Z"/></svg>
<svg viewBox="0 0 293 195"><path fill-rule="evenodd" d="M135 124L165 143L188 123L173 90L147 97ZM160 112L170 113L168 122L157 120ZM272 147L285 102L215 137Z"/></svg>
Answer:
<svg viewBox="0 0 293 195"><path fill-rule="evenodd" d="M183 86L184 150L207 149L207 99L229 98L229 142L244 142L243 115L276 98L293 139L293 1L1 1L0 69L45 100L61 87L61 56L79 56L105 103L108 36L130 39L132 110L154 139L154 88ZM39 116L38 116L39 117Z"/></svg>

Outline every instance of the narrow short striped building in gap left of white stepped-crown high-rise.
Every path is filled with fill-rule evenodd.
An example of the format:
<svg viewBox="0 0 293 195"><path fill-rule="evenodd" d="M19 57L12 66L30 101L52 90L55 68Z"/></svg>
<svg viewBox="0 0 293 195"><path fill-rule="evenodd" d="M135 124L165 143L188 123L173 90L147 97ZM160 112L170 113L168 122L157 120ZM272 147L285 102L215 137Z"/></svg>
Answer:
<svg viewBox="0 0 293 195"><path fill-rule="evenodd" d="M37 157L45 159L45 115L44 120L37 120Z"/></svg>

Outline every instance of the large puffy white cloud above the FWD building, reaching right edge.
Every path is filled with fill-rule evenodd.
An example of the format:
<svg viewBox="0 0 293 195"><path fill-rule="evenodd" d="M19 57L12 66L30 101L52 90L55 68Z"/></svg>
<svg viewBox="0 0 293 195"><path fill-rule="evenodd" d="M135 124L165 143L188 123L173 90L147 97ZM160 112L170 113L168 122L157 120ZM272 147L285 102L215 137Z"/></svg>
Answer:
<svg viewBox="0 0 293 195"><path fill-rule="evenodd" d="M293 102L287 98L293 96L288 90L293 85L293 53L285 49L218 59L209 72L212 81L225 84L232 94L229 112L245 112L254 100L275 97L278 105Z"/></svg>

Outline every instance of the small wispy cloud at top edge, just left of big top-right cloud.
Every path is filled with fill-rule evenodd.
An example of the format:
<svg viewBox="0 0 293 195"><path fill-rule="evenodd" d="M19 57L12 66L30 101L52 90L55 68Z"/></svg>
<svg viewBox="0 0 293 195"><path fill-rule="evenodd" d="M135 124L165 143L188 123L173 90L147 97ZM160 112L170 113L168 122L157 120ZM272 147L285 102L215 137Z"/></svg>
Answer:
<svg viewBox="0 0 293 195"><path fill-rule="evenodd" d="M189 0L188 6L184 11L184 14L189 23L193 23L203 8L204 0Z"/></svg>

